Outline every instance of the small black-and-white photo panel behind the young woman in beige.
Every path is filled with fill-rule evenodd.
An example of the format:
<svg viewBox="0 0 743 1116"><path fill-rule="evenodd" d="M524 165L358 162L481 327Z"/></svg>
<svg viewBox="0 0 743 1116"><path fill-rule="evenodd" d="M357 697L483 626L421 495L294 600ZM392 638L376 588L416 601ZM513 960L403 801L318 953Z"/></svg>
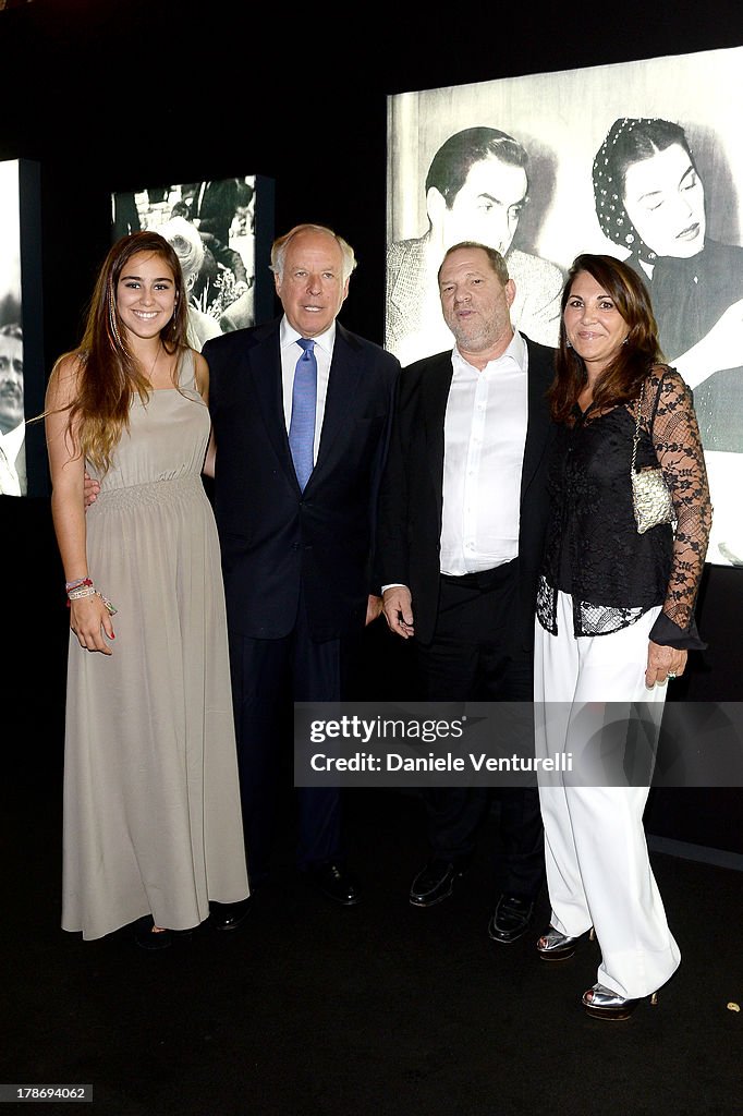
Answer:
<svg viewBox="0 0 743 1116"><path fill-rule="evenodd" d="M255 321L255 177L149 186L112 195L113 239L154 229L175 249L189 290L190 341Z"/></svg>

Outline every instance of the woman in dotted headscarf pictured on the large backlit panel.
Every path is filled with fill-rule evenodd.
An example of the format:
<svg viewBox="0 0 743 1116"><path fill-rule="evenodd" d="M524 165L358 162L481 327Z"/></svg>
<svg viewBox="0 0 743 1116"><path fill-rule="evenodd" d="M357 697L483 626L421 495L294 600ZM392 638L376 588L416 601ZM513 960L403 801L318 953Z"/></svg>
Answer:
<svg viewBox="0 0 743 1116"><path fill-rule="evenodd" d="M706 235L684 128L614 122L594 161L601 231L647 282L666 359L694 389L705 450L743 452L743 248Z"/></svg>

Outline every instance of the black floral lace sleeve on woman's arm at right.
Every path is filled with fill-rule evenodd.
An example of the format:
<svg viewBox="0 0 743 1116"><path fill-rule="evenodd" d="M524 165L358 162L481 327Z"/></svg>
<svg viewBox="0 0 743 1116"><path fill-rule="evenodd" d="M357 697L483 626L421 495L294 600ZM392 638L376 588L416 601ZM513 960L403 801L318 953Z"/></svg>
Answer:
<svg viewBox="0 0 743 1116"><path fill-rule="evenodd" d="M650 429L678 520L666 599L658 619L665 617L682 632L695 633L694 604L712 527L704 451L692 392L676 369L654 369L650 385L653 391L646 393L650 413L643 417ZM670 643L669 639L663 642Z"/></svg>

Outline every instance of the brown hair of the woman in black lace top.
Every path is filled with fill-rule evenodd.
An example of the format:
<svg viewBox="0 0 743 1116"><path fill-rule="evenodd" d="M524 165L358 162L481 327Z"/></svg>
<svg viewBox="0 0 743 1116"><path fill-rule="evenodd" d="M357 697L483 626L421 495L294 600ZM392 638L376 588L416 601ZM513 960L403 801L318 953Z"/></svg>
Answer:
<svg viewBox="0 0 743 1116"><path fill-rule="evenodd" d="M606 407L636 398L648 369L664 360L650 296L638 273L614 256L589 252L577 256L562 289L560 341L554 358L554 379L548 392L556 422L568 421L588 379L586 365L568 344L565 329L565 308L580 271L587 271L596 279L629 327L626 343L594 386L594 404Z"/></svg>

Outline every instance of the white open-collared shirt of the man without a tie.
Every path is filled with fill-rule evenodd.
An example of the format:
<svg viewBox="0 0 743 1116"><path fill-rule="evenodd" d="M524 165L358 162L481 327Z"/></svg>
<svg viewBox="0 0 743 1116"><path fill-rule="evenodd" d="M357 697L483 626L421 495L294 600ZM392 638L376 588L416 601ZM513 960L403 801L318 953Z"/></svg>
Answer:
<svg viewBox="0 0 743 1116"><path fill-rule="evenodd" d="M528 422L528 352L515 331L482 372L452 354L444 421L441 573L493 569L519 552Z"/></svg>

